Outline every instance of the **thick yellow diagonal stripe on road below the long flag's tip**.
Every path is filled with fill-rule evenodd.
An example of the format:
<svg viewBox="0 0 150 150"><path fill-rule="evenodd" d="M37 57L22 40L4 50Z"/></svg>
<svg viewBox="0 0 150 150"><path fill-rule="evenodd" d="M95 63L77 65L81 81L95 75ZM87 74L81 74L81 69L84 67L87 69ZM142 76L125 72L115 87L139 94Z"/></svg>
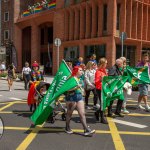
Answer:
<svg viewBox="0 0 150 150"><path fill-rule="evenodd" d="M30 143L33 141L33 139L37 136L37 133L40 131L39 127L42 127L43 125L36 126L35 128L33 128L32 132L24 139L24 141L17 147L16 150L27 149L27 147L30 145Z"/></svg>

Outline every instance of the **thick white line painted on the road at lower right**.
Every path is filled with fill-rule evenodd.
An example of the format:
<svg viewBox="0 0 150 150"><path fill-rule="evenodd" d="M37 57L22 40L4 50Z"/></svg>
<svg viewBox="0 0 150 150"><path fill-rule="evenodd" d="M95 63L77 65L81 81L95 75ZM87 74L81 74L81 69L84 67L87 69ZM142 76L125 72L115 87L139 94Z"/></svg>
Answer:
<svg viewBox="0 0 150 150"><path fill-rule="evenodd" d="M146 125L141 125L141 124L132 123L132 122L123 121L123 120L118 120L118 119L113 119L113 120L111 120L111 121L116 122L116 123L119 123L119 124L131 126L131 127L140 128L140 129L148 127L148 126L146 126Z"/></svg>

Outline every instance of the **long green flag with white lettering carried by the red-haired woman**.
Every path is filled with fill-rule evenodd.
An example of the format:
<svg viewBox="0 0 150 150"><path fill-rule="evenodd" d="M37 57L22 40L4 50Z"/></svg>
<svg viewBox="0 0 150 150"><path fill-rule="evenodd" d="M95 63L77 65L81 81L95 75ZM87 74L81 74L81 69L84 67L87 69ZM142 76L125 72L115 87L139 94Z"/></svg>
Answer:
<svg viewBox="0 0 150 150"><path fill-rule="evenodd" d="M31 116L31 120L35 125L42 124L48 118L53 111L55 100L61 94L78 85L76 79L74 77L69 78L70 76L71 71L63 60L46 95L35 110L34 114Z"/></svg>

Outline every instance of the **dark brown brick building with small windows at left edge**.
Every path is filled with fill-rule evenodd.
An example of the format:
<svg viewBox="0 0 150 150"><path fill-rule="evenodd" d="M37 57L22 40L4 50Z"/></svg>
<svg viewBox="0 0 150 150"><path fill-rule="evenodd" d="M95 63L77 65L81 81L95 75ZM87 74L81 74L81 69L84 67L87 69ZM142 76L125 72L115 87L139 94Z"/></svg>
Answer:
<svg viewBox="0 0 150 150"><path fill-rule="evenodd" d="M13 0L0 1L0 48L8 48L8 41L13 41L14 34L14 5ZM6 53L7 52L7 53ZM0 60L9 60L9 50L0 54Z"/></svg>

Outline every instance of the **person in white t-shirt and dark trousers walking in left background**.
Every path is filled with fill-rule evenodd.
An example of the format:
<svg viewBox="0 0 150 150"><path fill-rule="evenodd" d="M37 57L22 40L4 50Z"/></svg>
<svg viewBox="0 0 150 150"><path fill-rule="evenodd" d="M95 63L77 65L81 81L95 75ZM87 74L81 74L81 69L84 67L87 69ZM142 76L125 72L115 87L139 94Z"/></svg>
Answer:
<svg viewBox="0 0 150 150"><path fill-rule="evenodd" d="M24 80L24 84L25 84L25 86L24 86L25 90L28 89L28 83L31 79L30 73L31 73L31 68L29 67L29 63L25 62L25 67L23 67L23 69L22 69L22 76L23 76L23 80Z"/></svg>

